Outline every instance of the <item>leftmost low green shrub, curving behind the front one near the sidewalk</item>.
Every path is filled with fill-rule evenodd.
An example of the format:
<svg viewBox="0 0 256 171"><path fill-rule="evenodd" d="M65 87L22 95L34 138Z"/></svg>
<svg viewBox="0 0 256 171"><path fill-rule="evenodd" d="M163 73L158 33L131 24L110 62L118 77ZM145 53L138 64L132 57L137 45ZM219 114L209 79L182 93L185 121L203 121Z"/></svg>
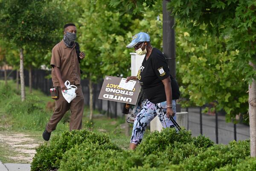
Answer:
<svg viewBox="0 0 256 171"><path fill-rule="evenodd" d="M83 142L99 145L110 143L105 134L97 134L88 130L64 131L61 135L52 137L49 144L44 143L37 148L37 153L31 163L31 171L59 168L64 153Z"/></svg>

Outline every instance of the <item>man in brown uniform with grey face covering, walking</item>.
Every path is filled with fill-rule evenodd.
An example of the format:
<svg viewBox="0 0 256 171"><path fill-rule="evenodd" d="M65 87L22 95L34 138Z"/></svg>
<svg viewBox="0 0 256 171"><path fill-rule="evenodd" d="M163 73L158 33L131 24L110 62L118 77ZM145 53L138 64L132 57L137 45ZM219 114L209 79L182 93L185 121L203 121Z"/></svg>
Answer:
<svg viewBox="0 0 256 171"><path fill-rule="evenodd" d="M76 26L72 23L64 26L64 38L60 43L52 49L52 83L57 87L58 100L55 100L55 112L46 125L43 133L44 140L48 141L51 132L55 130L58 122L64 114L70 109L70 131L73 129L81 129L82 116L84 112L84 96L82 86L80 84L80 68L79 60L76 54ZM84 58L81 52L79 57ZM62 92L67 89L64 82L68 80L71 85L76 85L76 98L68 103L62 96Z"/></svg>

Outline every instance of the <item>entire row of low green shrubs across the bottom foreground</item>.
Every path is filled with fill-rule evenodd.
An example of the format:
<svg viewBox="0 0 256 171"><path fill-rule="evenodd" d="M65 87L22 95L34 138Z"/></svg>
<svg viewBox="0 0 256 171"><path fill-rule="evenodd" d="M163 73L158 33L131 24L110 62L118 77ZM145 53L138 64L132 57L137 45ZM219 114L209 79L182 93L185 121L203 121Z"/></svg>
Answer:
<svg viewBox="0 0 256 171"><path fill-rule="evenodd" d="M122 150L101 133L64 132L37 149L31 170L59 171L211 171L255 167L254 160L236 165L250 155L249 141L214 145L191 131L166 128L148 135L135 151ZM242 162L243 163L243 162ZM254 163L254 166L253 166ZM235 168L236 167L236 168Z"/></svg>

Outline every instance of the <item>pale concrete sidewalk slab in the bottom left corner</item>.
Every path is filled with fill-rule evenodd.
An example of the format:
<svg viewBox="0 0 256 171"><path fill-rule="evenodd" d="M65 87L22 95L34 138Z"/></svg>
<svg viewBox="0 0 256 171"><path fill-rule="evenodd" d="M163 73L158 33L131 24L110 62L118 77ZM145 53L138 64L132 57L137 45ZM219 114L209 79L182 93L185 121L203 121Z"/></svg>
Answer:
<svg viewBox="0 0 256 171"><path fill-rule="evenodd" d="M0 171L30 171L30 164L2 163L0 161Z"/></svg>

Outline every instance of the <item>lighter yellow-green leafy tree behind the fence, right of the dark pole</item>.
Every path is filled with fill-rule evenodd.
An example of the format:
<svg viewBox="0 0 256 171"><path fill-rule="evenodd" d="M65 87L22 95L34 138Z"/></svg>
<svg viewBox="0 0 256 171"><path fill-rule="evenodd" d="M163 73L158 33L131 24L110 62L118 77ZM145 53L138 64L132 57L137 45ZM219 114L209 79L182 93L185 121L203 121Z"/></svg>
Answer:
<svg viewBox="0 0 256 171"><path fill-rule="evenodd" d="M247 113L247 83L239 66L239 51L226 51L225 40L201 35L195 39L186 31L177 35L177 72L182 79L180 91L189 104L202 106L216 102L216 109L227 112L227 121ZM185 103L185 104L184 104ZM186 105L188 102L184 102Z"/></svg>

